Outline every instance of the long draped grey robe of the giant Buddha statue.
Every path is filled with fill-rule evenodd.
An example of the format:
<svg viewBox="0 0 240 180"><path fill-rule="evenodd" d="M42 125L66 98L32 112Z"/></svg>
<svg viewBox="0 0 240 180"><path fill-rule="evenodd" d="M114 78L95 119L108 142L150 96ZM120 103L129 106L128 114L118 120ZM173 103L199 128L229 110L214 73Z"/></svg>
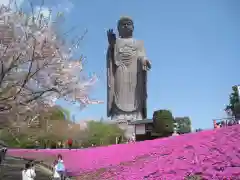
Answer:
<svg viewBox="0 0 240 180"><path fill-rule="evenodd" d="M117 38L107 52L107 115L112 119L147 117L147 73L143 41Z"/></svg>

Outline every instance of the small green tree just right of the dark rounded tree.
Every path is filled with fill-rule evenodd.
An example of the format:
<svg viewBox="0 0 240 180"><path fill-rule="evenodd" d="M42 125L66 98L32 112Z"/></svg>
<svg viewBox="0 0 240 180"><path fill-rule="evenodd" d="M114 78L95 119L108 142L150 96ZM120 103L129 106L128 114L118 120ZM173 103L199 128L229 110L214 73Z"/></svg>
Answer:
<svg viewBox="0 0 240 180"><path fill-rule="evenodd" d="M177 133L185 134L191 132L191 120L189 117L176 117L175 122L177 124Z"/></svg>

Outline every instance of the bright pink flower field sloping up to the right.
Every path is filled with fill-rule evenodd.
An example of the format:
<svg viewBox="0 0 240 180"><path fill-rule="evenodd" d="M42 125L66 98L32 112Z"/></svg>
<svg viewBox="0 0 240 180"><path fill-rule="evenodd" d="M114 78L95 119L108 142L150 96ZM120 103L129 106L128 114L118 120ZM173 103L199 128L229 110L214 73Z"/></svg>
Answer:
<svg viewBox="0 0 240 180"><path fill-rule="evenodd" d="M240 125L152 141L88 149L10 149L9 155L46 159L61 153L69 174L80 179L182 180L240 177Z"/></svg>

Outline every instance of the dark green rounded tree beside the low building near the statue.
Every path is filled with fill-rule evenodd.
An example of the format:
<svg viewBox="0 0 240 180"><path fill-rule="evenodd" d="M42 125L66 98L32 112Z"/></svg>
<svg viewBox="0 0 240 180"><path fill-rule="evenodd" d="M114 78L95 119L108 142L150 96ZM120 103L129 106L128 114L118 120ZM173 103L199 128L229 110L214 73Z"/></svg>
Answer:
<svg viewBox="0 0 240 180"><path fill-rule="evenodd" d="M166 137L174 131L174 118L169 110L158 110L153 113L154 131Z"/></svg>

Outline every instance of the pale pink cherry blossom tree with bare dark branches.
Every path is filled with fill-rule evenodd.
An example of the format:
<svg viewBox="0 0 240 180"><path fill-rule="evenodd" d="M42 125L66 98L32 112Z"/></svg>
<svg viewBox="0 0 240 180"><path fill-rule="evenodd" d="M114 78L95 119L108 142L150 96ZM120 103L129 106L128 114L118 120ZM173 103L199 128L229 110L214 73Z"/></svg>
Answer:
<svg viewBox="0 0 240 180"><path fill-rule="evenodd" d="M1 121L34 118L61 98L81 108L102 103L89 98L97 77L83 78L83 58L72 59L82 37L65 43L57 19L0 7Z"/></svg>

